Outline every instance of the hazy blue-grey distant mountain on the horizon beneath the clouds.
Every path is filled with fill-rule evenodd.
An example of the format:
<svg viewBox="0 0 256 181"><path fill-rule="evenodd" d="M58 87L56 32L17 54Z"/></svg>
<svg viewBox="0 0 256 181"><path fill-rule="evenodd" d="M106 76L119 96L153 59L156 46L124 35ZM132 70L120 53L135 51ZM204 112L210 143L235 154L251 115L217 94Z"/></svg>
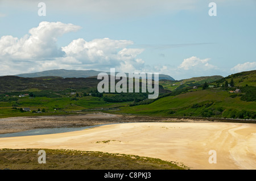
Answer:
<svg viewBox="0 0 256 181"><path fill-rule="evenodd" d="M63 78L86 78L97 76L102 71L96 70L65 70L65 69L56 69L56 70L46 70L36 73L24 73L18 74L15 76L24 77L24 78L35 78L35 77L63 77ZM106 72L110 74L109 72ZM153 74L154 75L154 74ZM159 79L167 79L175 81L174 78L169 75L159 74Z"/></svg>

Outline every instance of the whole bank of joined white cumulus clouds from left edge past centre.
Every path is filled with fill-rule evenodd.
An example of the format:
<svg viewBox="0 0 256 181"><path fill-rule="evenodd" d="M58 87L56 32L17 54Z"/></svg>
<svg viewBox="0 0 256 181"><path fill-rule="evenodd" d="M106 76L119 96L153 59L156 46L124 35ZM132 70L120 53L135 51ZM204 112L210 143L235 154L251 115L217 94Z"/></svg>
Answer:
<svg viewBox="0 0 256 181"><path fill-rule="evenodd" d="M86 41L80 38L67 46L57 47L57 37L80 28L61 22L41 22L20 39L11 35L0 37L0 64L12 69L1 73L10 74L17 69L26 72L59 68L104 71L110 68L117 71L143 68L144 61L137 56L144 49L127 48L133 45L130 40L104 38Z"/></svg>

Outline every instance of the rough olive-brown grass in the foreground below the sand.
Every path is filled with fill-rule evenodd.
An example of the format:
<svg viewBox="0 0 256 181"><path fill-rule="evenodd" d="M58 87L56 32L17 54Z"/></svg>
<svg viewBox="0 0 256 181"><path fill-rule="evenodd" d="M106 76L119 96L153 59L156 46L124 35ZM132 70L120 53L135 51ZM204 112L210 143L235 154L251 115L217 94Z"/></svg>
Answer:
<svg viewBox="0 0 256 181"><path fill-rule="evenodd" d="M39 164L40 149L0 149L0 169L11 170L184 170L177 162L137 155L111 154L96 151L46 151L46 163Z"/></svg>

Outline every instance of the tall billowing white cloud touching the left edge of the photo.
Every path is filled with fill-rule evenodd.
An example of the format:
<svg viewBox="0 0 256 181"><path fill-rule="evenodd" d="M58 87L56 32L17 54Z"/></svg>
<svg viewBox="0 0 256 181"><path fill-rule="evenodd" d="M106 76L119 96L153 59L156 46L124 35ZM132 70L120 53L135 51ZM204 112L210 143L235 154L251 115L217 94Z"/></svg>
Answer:
<svg viewBox="0 0 256 181"><path fill-rule="evenodd" d="M15 60L40 60L62 56L64 52L56 45L57 37L80 28L61 22L41 22L38 27L31 28L29 34L20 39L10 35L2 36L0 55Z"/></svg>

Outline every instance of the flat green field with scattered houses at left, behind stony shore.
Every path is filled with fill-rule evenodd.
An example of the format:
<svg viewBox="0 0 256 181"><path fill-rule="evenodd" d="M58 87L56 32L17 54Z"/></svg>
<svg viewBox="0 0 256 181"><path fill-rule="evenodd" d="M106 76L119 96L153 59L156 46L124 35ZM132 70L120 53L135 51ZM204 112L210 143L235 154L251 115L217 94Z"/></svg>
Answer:
<svg viewBox="0 0 256 181"><path fill-rule="evenodd" d="M0 117L14 116L42 116L60 115L75 111L97 110L101 108L115 108L127 105L127 102L112 103L106 102L103 98L96 96L62 96L61 98L47 98L45 96L22 98L15 97L17 100L0 102ZM22 112L20 108L30 108L30 112ZM46 112L38 112L43 108Z"/></svg>

